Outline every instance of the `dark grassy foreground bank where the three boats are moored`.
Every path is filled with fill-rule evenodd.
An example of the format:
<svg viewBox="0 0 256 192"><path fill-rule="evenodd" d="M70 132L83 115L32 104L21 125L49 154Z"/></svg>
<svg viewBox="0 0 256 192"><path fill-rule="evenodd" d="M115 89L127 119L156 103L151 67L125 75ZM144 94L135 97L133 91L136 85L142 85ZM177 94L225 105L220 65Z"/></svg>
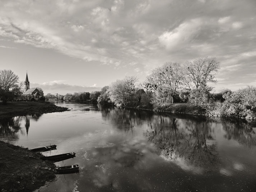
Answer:
<svg viewBox="0 0 256 192"><path fill-rule="evenodd" d="M39 159L43 155L0 141L0 189L34 191L55 178L55 164Z"/></svg>

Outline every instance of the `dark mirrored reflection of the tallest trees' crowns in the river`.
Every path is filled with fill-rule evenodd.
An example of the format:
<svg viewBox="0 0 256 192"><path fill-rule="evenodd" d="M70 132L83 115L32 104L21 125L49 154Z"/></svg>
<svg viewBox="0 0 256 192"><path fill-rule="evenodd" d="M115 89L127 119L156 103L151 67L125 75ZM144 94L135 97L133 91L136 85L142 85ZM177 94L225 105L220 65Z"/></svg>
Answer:
<svg viewBox="0 0 256 192"><path fill-rule="evenodd" d="M219 163L217 144L207 120L161 117L152 122L154 131L146 136L167 160L184 160L187 165L214 168ZM165 123L163 123L165 122Z"/></svg>

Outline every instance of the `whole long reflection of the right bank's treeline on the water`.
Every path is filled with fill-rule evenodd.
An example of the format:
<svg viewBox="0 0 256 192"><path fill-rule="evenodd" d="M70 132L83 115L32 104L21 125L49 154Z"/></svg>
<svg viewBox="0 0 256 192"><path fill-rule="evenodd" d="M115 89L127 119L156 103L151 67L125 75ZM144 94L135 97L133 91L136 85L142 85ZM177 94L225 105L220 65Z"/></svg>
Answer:
<svg viewBox="0 0 256 192"><path fill-rule="evenodd" d="M158 155L169 161L182 161L187 166L206 170L221 163L215 130L220 127L224 138L246 146L256 146L255 121L227 120L154 113L130 108L99 106L102 117L123 131L145 128L145 136L157 147ZM254 128L253 128L254 127Z"/></svg>

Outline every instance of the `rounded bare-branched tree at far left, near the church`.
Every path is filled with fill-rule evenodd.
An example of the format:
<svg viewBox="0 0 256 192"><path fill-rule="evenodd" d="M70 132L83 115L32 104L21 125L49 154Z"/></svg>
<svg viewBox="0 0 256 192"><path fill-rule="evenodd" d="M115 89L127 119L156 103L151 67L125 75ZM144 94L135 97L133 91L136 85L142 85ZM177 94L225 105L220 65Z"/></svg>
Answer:
<svg viewBox="0 0 256 192"><path fill-rule="evenodd" d="M5 92L10 91L17 87L19 83L18 75L15 75L11 70L0 70L0 89L4 90Z"/></svg>

